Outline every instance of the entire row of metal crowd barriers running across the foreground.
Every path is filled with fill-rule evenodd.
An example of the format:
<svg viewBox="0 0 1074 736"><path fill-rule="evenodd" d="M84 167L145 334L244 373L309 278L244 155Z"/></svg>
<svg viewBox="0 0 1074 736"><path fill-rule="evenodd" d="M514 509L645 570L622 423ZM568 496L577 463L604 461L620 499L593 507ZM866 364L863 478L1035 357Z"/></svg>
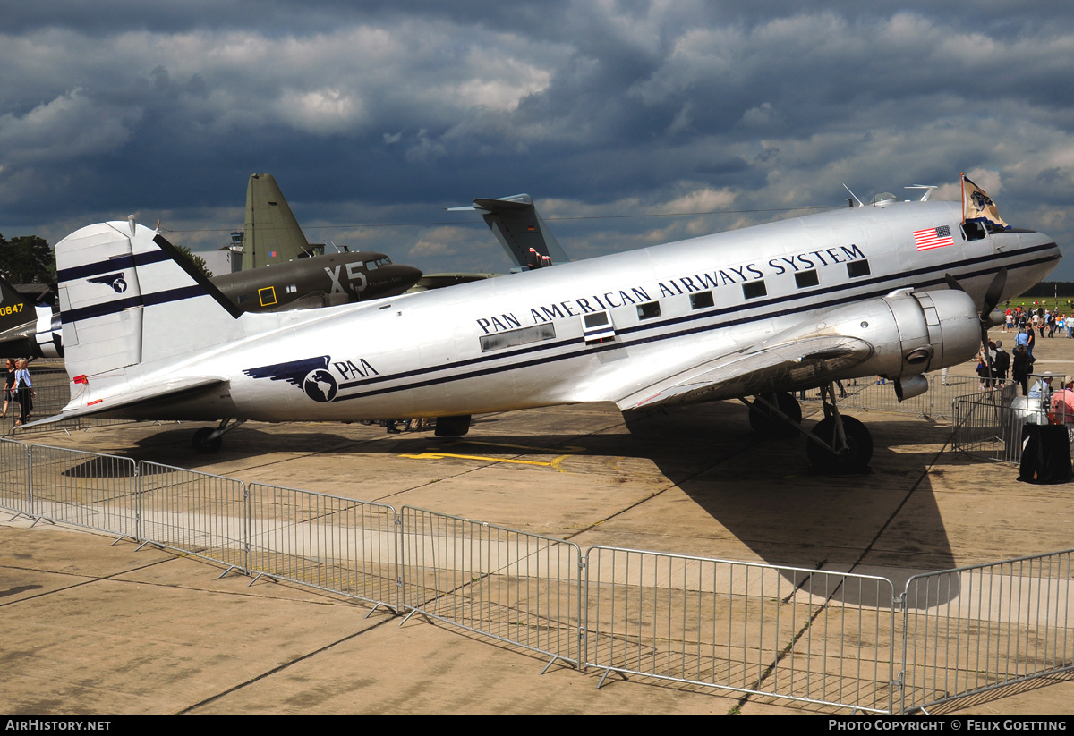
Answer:
<svg viewBox="0 0 1074 736"><path fill-rule="evenodd" d="M882 577L605 546L582 556L410 506L249 490L0 440L0 506L421 613L549 665L601 668L601 683L638 674L905 712L1074 668L1074 550L918 575L897 600Z"/></svg>

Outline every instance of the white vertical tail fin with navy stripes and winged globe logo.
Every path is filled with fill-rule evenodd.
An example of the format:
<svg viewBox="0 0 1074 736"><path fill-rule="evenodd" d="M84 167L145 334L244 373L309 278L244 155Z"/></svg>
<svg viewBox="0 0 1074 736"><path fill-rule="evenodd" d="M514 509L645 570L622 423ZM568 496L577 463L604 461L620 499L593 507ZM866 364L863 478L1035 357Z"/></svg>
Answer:
<svg viewBox="0 0 1074 736"><path fill-rule="evenodd" d="M174 246L128 222L89 225L56 244L68 372L163 365L243 336L240 310Z"/></svg>

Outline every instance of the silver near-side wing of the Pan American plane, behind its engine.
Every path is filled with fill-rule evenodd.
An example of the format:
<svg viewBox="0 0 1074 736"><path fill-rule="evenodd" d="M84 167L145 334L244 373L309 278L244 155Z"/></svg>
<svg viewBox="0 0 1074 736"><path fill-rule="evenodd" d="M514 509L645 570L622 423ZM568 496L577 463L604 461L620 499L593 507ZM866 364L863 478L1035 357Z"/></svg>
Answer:
<svg viewBox="0 0 1074 736"><path fill-rule="evenodd" d="M815 386L826 376L865 363L873 352L869 342L840 335L765 343L695 365L636 389L616 403L628 411Z"/></svg>

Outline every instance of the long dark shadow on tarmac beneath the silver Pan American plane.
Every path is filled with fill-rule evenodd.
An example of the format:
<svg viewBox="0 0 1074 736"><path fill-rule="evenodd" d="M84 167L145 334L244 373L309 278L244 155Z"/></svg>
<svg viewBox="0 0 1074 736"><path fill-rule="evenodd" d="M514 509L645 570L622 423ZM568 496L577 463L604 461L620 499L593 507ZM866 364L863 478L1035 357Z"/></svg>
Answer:
<svg viewBox="0 0 1074 736"><path fill-rule="evenodd" d="M918 571L956 566L926 473L935 459L931 447L944 443L949 427L888 415L870 425L875 438L870 472L832 477L812 472L803 439L761 441L751 433L745 409L734 404L657 414L632 423L630 432L620 427L618 432L580 428L577 433L565 433L560 423L561 431L520 433L510 417L481 417L480 431L471 430L465 438L435 438L432 431L422 431L393 436L389 441L379 427L369 427L366 437L353 438L333 433L331 425L316 429L304 425L295 431L289 431L288 425L271 431L247 426L226 436L220 455L197 455L184 448L177 458L177 445L189 447L190 428L183 425L144 438L130 455L197 470L224 456L243 459L272 452L404 455L450 445L451 453L490 455L503 454L489 446L499 444L513 445L512 457L547 458L584 447L582 456L651 460L705 513L770 564L879 574L892 583L896 595ZM504 433L496 433L497 425ZM927 446L915 448L920 445ZM785 576L790 579L789 573ZM948 577L939 590L929 591L930 606L957 598L957 576ZM802 573L794 582L809 584Z"/></svg>

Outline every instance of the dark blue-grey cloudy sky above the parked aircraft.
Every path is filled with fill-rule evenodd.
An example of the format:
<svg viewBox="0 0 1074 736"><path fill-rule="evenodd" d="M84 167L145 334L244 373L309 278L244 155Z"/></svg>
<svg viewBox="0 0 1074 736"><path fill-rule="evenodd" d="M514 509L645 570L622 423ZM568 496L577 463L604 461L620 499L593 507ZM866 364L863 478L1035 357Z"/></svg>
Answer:
<svg viewBox="0 0 1074 736"><path fill-rule="evenodd" d="M503 270L444 207L528 192L586 257L964 171L1074 255L1072 128L1050 0L0 0L0 233L49 242L214 249L267 172L310 240Z"/></svg>

